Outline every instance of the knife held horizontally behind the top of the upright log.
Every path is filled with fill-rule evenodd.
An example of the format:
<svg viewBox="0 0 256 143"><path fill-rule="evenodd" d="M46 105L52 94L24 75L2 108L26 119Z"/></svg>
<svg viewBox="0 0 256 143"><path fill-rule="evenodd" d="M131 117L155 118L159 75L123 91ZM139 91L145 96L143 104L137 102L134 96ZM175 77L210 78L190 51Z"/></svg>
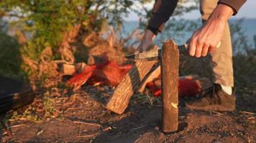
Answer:
<svg viewBox="0 0 256 143"><path fill-rule="evenodd" d="M216 48L219 48L221 45L221 42L216 46ZM178 49L181 53L188 51L188 44L183 44L178 46ZM161 58L161 49L153 50L153 51L145 51L142 53L137 54L129 54L125 56L127 59L131 59L133 61L153 61L153 60L159 60Z"/></svg>

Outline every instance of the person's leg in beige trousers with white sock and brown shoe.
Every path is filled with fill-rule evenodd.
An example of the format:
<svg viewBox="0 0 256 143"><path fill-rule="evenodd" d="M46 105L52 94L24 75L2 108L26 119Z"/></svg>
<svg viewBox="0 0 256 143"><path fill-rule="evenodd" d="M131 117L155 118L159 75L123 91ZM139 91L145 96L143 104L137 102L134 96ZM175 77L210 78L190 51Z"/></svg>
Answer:
<svg viewBox="0 0 256 143"><path fill-rule="evenodd" d="M206 21L215 9L218 0L201 0L200 11L203 22ZM186 102L189 109L204 109L217 111L234 111L236 97L232 67L232 44L227 24L221 38L221 46L211 54L211 67L214 74L214 86L211 92L206 91L204 97L196 101Z"/></svg>

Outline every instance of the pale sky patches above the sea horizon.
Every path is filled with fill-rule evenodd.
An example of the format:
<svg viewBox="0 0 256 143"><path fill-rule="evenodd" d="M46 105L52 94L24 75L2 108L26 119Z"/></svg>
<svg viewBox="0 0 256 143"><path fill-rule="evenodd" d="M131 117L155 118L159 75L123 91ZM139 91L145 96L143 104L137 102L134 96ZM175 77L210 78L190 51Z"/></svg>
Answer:
<svg viewBox="0 0 256 143"><path fill-rule="evenodd" d="M152 7L152 4L151 6ZM183 16L185 19L198 19L200 18L200 13L198 10L191 11L189 14ZM242 6L236 16L232 16L232 19L256 19L256 0L247 0L247 2ZM137 21L139 17L137 14L131 12L128 17L125 18L126 21Z"/></svg>

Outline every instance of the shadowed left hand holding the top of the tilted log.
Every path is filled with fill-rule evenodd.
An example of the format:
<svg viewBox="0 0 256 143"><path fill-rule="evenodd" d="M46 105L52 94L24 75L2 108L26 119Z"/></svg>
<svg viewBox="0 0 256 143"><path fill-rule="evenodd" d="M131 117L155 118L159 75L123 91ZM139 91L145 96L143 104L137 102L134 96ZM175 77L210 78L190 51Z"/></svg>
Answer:
<svg viewBox="0 0 256 143"><path fill-rule="evenodd" d="M147 29L145 31L145 34L142 38L142 41L140 42L140 45L138 46L138 51L146 51L147 48L152 44L152 41L155 39L155 34L153 34L152 31Z"/></svg>

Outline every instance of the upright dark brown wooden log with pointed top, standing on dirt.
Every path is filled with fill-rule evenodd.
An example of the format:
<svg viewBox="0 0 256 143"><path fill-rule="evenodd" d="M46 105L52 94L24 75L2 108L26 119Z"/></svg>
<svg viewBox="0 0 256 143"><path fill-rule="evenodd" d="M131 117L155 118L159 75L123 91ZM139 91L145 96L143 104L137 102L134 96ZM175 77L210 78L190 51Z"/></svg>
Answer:
<svg viewBox="0 0 256 143"><path fill-rule="evenodd" d="M173 39L163 44L161 56L161 85L163 94L162 131L168 134L178 130L179 51Z"/></svg>

